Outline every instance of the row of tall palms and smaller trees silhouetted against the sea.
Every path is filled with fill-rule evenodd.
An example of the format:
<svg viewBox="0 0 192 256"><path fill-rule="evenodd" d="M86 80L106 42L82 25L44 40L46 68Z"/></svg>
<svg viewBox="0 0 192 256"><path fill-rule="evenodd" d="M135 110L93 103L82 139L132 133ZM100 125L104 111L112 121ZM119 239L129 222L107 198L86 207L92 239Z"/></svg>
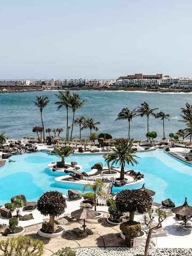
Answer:
<svg viewBox="0 0 192 256"><path fill-rule="evenodd" d="M58 94L55 94L55 97L57 97L57 101L55 102L55 105L57 105L57 110L60 110L62 108L66 109L66 140L69 141L73 138L73 131L74 131L74 125L79 127L79 139L82 139L82 131L84 129L89 129L89 139L95 140L98 138L98 135L95 134L93 131L98 131L98 125L100 122L95 122L93 118L85 118L84 116L79 116L75 118L76 111L81 108L85 103L86 100L82 100L81 96L77 94L76 92L71 93L69 89L66 89L65 91L59 91ZM44 95L36 96L35 106L39 108L40 114L41 114L41 122L42 126L35 126L33 128L33 132L37 134L38 140L42 141L45 140L45 132L49 133L49 137L51 137L52 132L54 134L54 137L59 137L60 133L63 132L62 128L57 129L51 129L46 128L44 129L44 123L43 123L43 110L44 108L49 104L50 99L48 97L45 97ZM151 131L149 129L149 119L150 118L159 118L162 120L162 126L163 126L163 132L162 132L162 139L165 140L165 123L167 121L170 121L170 115L168 113L164 113L163 111L157 111L158 108L150 108L149 103L143 102L138 108L130 109L128 107L123 108L119 114L117 115L117 118L115 121L123 121L126 120L128 122L128 132L127 132L127 138L131 140L131 123L135 117L144 117L147 121L147 131L146 131L146 137L147 141L153 141L157 137L156 131ZM71 117L72 122L69 124L69 117ZM181 108L181 119L179 122L185 123L186 127L183 127L183 129L180 129L178 132L170 133L169 137L171 139L177 139L178 137L181 137L182 140L185 138L189 138L191 142L192 138L192 105L189 103L186 103L185 108ZM3 134L4 135L4 134ZM54 138L53 137L53 138Z"/></svg>

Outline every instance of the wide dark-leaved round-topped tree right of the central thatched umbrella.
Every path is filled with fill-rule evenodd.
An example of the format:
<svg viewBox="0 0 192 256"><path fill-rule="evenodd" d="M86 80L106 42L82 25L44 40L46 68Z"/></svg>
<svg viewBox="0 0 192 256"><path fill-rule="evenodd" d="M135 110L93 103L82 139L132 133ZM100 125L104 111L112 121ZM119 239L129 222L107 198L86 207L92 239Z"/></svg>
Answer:
<svg viewBox="0 0 192 256"><path fill-rule="evenodd" d="M117 208L123 212L130 212L129 220L134 220L134 212L143 213L151 207L152 198L142 190L122 190L115 199Z"/></svg>

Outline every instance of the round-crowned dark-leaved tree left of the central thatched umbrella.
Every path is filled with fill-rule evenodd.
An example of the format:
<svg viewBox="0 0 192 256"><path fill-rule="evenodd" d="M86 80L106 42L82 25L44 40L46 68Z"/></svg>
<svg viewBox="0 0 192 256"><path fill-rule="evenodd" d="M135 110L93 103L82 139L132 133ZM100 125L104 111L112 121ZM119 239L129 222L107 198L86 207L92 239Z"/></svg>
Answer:
<svg viewBox="0 0 192 256"><path fill-rule="evenodd" d="M45 216L50 215L46 230L42 226L46 232L53 233L54 218L65 212L66 207L66 199L62 196L62 193L58 191L49 191L39 197L37 201L37 210Z"/></svg>

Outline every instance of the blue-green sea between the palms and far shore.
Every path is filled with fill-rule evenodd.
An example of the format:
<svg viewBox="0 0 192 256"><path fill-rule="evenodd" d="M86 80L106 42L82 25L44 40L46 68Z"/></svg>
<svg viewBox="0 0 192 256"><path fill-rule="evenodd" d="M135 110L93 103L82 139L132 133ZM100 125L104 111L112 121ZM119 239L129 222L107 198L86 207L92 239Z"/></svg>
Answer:
<svg viewBox="0 0 192 256"><path fill-rule="evenodd" d="M84 116L93 118L98 125L97 134L109 133L113 138L128 138L128 122L115 121L122 108L137 108L144 101L150 108L158 108L170 115L170 122L165 120L165 137L169 138L170 132L184 129L185 123L179 122L181 108L185 108L186 102L192 104L191 93L158 93L158 92L129 92L129 91L76 91L81 99L87 102L75 113L75 118ZM21 92L0 94L0 133L5 132L6 137L22 139L23 137L36 137L32 131L34 126L41 126L41 116L38 107L34 105L36 95L43 94L50 98L50 103L43 110L45 128L63 128L61 137L66 137L66 109L63 107L57 111L55 102L58 98L57 91ZM69 110L69 125L72 121L72 112ZM149 117L149 131L156 131L157 139L163 137L163 122L159 118ZM130 136L135 140L146 140L147 118L134 117L131 122ZM87 138L90 130L82 131L82 138ZM48 134L47 134L48 135ZM74 126L73 137L79 137L79 126Z"/></svg>

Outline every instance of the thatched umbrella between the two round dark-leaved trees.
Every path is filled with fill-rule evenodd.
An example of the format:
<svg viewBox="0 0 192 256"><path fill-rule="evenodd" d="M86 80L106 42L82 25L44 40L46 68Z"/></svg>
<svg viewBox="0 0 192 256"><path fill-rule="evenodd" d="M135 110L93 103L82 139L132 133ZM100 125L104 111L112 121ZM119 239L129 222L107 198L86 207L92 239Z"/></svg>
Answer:
<svg viewBox="0 0 192 256"><path fill-rule="evenodd" d="M93 219L94 217L98 216L98 213L90 210L88 208L82 208L79 210L76 210L74 212L71 212L71 217L78 219L78 220L84 220L83 223L83 231L85 232L85 219Z"/></svg>

